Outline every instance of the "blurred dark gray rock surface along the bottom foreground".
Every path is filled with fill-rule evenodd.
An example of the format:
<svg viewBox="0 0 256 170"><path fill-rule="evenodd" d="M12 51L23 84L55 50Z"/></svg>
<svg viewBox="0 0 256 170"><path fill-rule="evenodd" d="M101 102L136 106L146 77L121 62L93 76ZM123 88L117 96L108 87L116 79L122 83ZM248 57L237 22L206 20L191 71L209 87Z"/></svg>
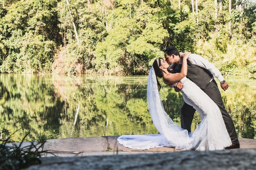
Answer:
<svg viewBox="0 0 256 170"><path fill-rule="evenodd" d="M211 152L42 158L28 170L48 169L255 169L256 149Z"/></svg>

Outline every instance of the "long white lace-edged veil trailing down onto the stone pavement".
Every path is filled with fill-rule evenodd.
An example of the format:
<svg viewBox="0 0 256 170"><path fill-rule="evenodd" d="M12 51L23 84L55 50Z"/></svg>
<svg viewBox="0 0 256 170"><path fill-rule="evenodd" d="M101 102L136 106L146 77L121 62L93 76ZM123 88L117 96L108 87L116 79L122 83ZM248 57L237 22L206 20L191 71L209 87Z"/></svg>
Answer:
<svg viewBox="0 0 256 170"><path fill-rule="evenodd" d="M175 124L164 111L153 67L150 69L148 76L147 101L150 116L160 134L122 135L117 141L126 147L135 149L149 149L161 146L173 146L179 149L179 146L188 145L191 140L188 131Z"/></svg>

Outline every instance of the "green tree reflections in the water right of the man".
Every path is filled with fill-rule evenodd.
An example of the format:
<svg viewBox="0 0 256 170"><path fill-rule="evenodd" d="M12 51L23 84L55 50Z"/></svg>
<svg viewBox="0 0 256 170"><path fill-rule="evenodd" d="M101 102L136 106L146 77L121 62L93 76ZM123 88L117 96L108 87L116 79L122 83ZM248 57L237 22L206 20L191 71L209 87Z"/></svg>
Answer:
<svg viewBox="0 0 256 170"><path fill-rule="evenodd" d="M230 80L230 88L221 95L239 137L256 139L255 78Z"/></svg>

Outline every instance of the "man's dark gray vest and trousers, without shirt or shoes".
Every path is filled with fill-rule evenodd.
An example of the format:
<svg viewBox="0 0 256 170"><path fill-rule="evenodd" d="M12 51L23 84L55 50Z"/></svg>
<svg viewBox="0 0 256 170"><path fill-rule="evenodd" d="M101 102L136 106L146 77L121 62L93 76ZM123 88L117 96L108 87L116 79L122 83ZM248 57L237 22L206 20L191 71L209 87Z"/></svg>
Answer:
<svg viewBox="0 0 256 170"><path fill-rule="evenodd" d="M197 86L199 86L214 101L214 103L218 105L232 143L239 143L233 120L226 111L217 83L215 80L210 82L213 75L207 69L193 65L189 61L187 62L187 65L187 78L197 84ZM187 129L188 132L191 132L191 124L195 111L196 110L192 106L184 101L180 115L181 128Z"/></svg>

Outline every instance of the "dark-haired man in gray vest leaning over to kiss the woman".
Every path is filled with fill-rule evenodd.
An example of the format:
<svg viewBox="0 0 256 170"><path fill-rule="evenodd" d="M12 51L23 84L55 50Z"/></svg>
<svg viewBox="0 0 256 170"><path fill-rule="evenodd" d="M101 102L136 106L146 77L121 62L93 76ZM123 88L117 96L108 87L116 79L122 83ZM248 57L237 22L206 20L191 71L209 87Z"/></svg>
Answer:
<svg viewBox="0 0 256 170"><path fill-rule="evenodd" d="M169 67L170 72L175 73L180 71L182 65L182 59L180 58L182 58L182 55L183 53L179 52L174 46L166 48L164 51L164 57L168 64L172 64ZM232 141L232 144L226 147L226 149L240 148L233 120L226 111L217 83L214 80L214 76L220 81L221 88L224 91L227 90L227 82L224 80L220 71L216 69L212 63L197 54L189 55L189 58L187 59L187 78L199 86L220 108L224 123ZM182 82L179 81L177 86L174 88L176 92L179 92L179 90L183 88ZM181 128L187 129L188 132L191 132L191 123L194 113L195 109L184 101L180 114Z"/></svg>

